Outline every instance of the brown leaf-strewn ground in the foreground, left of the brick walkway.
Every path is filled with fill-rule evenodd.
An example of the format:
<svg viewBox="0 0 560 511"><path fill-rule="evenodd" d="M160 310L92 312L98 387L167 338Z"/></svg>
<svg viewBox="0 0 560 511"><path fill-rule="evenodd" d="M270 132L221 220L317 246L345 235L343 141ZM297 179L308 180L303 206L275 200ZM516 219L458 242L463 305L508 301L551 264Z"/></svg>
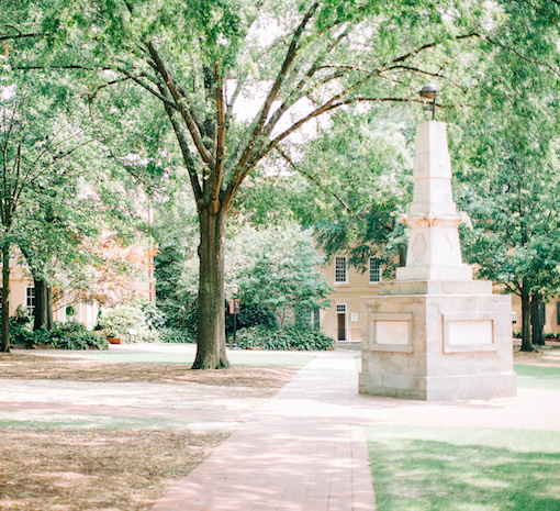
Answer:
<svg viewBox="0 0 560 511"><path fill-rule="evenodd" d="M226 434L0 430L0 509L149 509Z"/></svg>

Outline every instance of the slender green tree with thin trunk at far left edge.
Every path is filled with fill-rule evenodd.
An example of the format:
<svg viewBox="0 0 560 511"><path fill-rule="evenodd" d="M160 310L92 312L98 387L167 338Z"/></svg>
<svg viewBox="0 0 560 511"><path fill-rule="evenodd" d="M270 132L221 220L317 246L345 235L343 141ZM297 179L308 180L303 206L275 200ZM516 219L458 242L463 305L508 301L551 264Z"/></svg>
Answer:
<svg viewBox="0 0 560 511"><path fill-rule="evenodd" d="M2 89L0 137L2 180L2 341L10 349L9 298L10 260L15 246L31 253L31 244L48 230L37 229L30 219L51 211L49 192L67 171L71 155L87 141L56 108L55 97L36 96L32 82L10 77ZM51 204L52 205L52 204ZM51 216L46 220L53 220ZM34 229L35 227L35 229ZM36 276L37 274L34 274ZM43 281L43 279L41 279ZM41 295L41 298L46 298ZM41 304L43 302L40 302Z"/></svg>

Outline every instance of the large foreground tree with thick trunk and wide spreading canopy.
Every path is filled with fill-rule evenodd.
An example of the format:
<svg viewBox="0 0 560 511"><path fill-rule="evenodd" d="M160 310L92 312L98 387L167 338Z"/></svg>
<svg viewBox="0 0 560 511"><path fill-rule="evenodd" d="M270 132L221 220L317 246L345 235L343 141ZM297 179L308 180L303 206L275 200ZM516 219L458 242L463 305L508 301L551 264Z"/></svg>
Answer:
<svg viewBox="0 0 560 511"><path fill-rule="evenodd" d="M504 5L516 3L101 0L76 9L29 0L20 12L7 10L12 19L0 37L16 47L13 66L103 69L96 75L98 88L135 85L165 109L201 233L193 367L215 368L228 365L222 310L226 216L245 179L321 116L358 101L410 101L426 77L455 87L448 77L461 76L472 53L490 45L504 49L493 34L508 21ZM466 102L470 89L461 90ZM236 108L249 97L259 100L257 108Z"/></svg>

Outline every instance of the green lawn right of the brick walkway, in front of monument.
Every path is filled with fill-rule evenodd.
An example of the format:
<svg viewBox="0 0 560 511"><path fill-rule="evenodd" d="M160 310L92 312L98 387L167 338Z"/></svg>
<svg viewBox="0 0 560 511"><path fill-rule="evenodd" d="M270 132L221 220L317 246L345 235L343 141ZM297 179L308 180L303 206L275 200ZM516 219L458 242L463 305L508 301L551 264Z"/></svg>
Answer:
<svg viewBox="0 0 560 511"><path fill-rule="evenodd" d="M560 432L368 426L378 511L558 511Z"/></svg>

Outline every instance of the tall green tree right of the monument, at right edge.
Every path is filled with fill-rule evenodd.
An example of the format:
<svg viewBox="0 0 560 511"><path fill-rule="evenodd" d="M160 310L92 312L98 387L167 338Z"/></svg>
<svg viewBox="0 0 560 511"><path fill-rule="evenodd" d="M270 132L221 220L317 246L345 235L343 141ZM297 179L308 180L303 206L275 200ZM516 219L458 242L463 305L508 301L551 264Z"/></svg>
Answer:
<svg viewBox="0 0 560 511"><path fill-rule="evenodd" d="M496 26L472 68L473 108L447 116L462 182L456 197L473 223L464 231L466 259L520 297L522 349L531 351L530 302L560 289L560 5L502 5L507 24Z"/></svg>

